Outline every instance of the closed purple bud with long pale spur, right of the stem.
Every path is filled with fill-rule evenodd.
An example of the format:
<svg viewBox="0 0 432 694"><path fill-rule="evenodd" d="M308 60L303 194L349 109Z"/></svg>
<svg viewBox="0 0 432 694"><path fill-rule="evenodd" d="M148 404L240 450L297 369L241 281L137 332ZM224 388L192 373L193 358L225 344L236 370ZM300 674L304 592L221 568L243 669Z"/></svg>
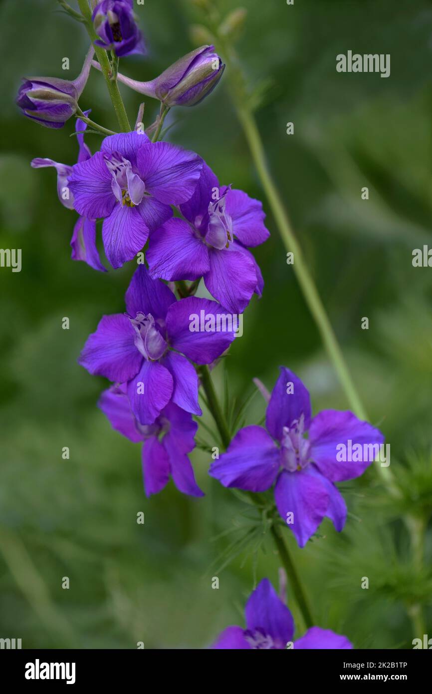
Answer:
<svg viewBox="0 0 432 694"><path fill-rule="evenodd" d="M98 62L94 61L93 65L101 69ZM196 106L214 90L224 69L225 65L214 46L200 46L174 62L150 82L132 80L120 73L117 79L135 92L159 99L168 108Z"/></svg>

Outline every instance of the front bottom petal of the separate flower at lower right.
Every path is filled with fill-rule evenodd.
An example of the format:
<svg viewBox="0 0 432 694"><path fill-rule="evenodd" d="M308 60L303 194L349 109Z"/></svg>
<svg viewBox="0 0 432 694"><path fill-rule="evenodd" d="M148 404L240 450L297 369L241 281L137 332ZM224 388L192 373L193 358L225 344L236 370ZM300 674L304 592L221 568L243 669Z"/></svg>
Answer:
<svg viewBox="0 0 432 694"><path fill-rule="evenodd" d="M293 521L288 527L299 547L304 547L327 513L329 494L321 480L307 469L294 473L284 471L276 482L275 501L283 520Z"/></svg>

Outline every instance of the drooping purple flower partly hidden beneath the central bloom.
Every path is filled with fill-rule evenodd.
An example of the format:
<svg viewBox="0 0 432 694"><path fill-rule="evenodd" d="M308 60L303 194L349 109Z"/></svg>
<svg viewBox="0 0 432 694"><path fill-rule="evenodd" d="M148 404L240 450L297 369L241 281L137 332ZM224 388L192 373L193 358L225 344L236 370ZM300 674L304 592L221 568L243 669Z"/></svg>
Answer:
<svg viewBox="0 0 432 694"><path fill-rule="evenodd" d="M142 425L130 409L126 384L104 391L98 406L112 428L134 443L142 443L142 469L146 495L157 494L173 477L184 494L204 496L195 481L188 453L195 448L198 424L174 403L162 409L155 422Z"/></svg>

